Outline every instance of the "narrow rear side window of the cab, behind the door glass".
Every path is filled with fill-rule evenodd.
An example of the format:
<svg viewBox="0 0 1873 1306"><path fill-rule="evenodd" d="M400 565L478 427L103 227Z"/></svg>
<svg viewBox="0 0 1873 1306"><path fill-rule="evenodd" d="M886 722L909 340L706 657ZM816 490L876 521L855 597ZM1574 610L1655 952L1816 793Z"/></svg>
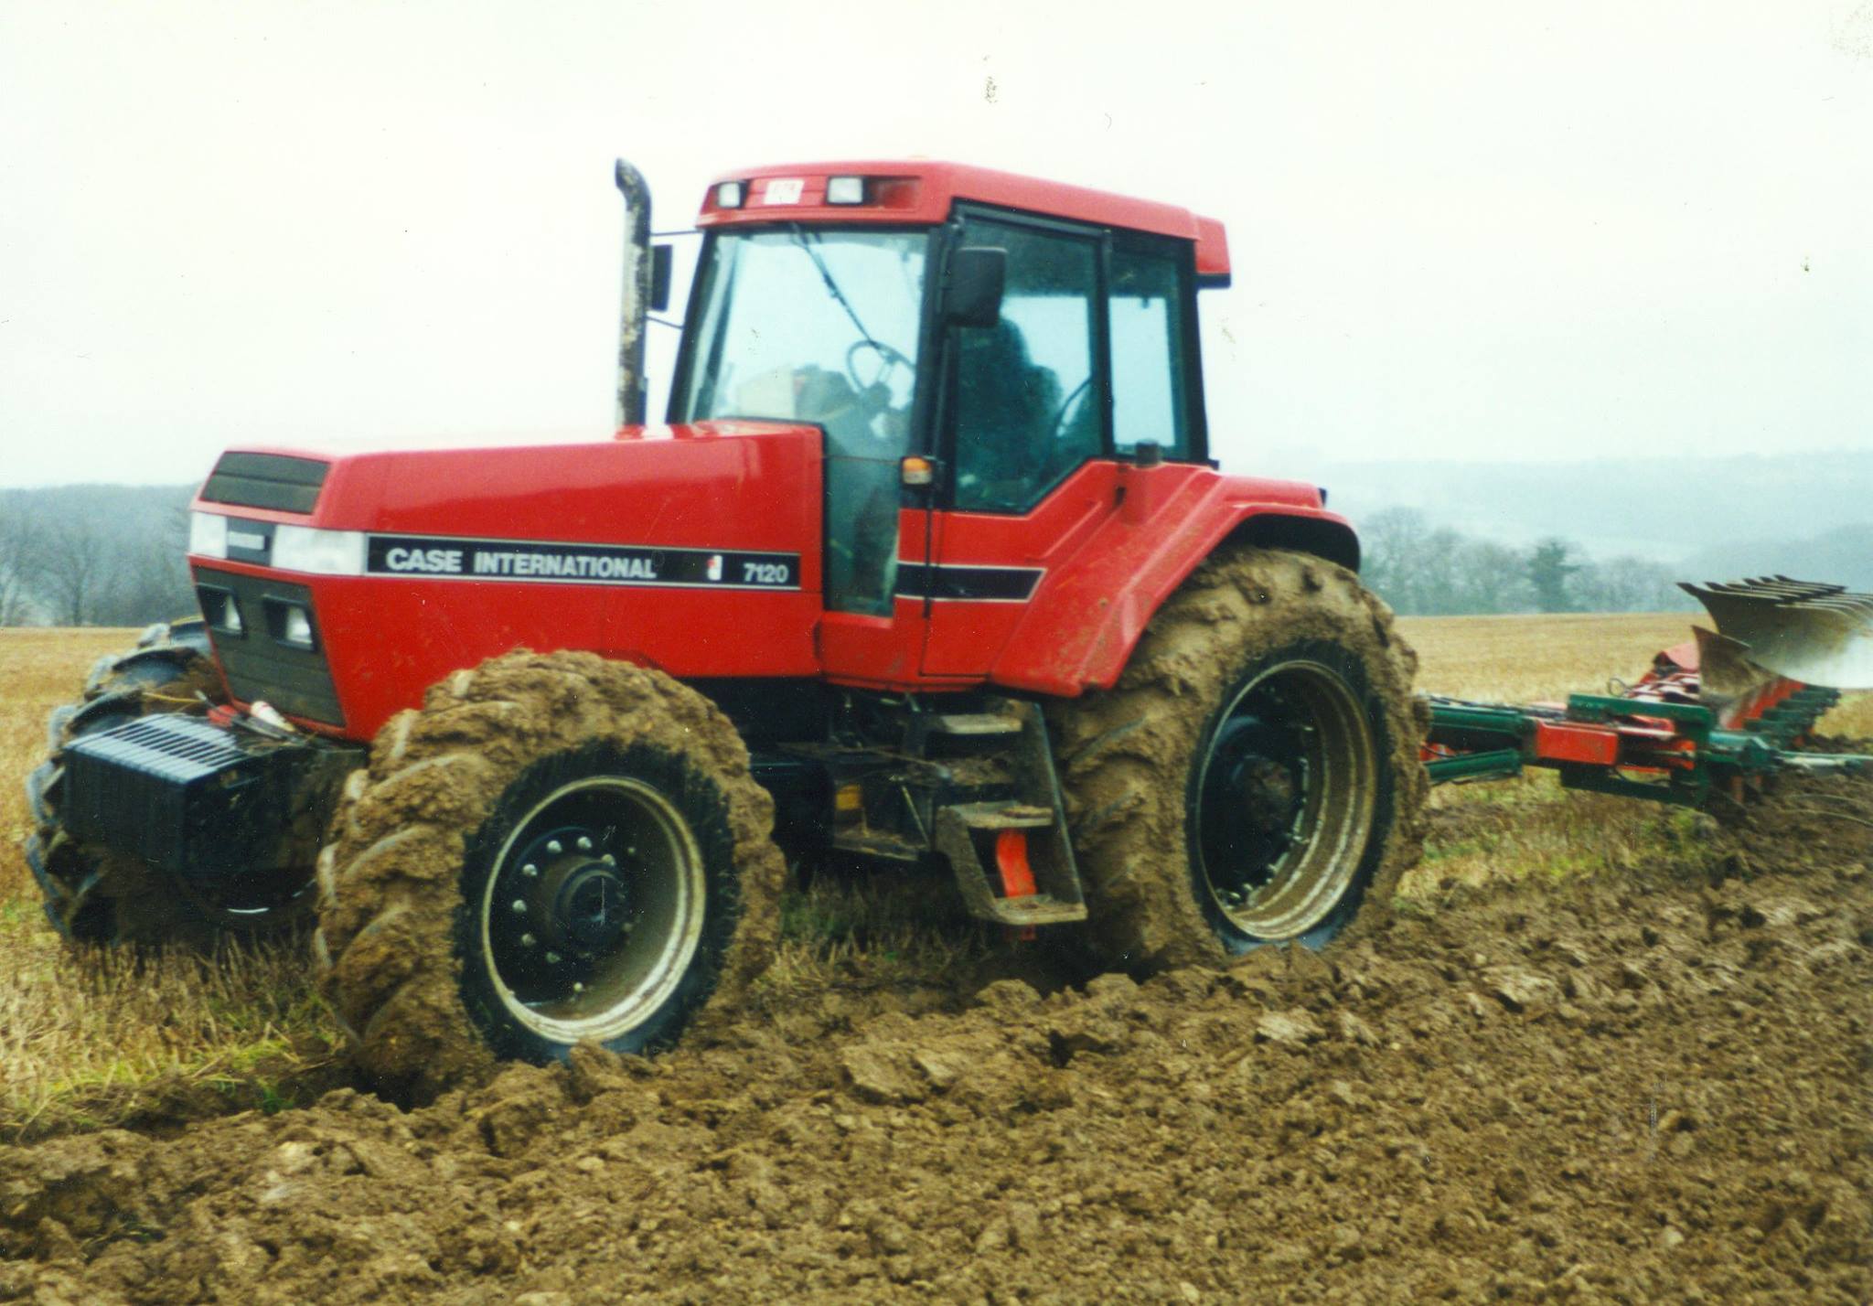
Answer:
<svg viewBox="0 0 1873 1306"><path fill-rule="evenodd" d="M1165 457L1189 457L1178 262L1118 247L1111 270L1113 442L1124 453L1158 440Z"/></svg>

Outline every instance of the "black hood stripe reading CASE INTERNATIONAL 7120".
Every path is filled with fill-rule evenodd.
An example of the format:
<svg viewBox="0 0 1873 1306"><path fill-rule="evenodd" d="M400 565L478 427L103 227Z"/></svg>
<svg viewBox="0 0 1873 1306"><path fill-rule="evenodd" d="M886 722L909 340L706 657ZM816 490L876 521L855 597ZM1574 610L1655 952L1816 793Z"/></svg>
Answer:
<svg viewBox="0 0 1873 1306"><path fill-rule="evenodd" d="M704 585L736 590L800 588L798 553L650 549L532 540L438 540L371 536L371 575L435 575L463 581L560 581L571 585Z"/></svg>

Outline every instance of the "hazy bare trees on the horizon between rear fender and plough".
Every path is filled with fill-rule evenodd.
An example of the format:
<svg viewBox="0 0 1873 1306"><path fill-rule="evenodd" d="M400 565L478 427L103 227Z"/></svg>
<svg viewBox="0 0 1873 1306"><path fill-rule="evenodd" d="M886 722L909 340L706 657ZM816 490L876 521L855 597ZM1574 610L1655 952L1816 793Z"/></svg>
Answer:
<svg viewBox="0 0 1873 1306"><path fill-rule="evenodd" d="M1635 557L1594 560L1570 540L1517 549L1438 527L1416 508L1360 523L1362 575L1395 611L1659 613L1688 607L1671 568Z"/></svg>

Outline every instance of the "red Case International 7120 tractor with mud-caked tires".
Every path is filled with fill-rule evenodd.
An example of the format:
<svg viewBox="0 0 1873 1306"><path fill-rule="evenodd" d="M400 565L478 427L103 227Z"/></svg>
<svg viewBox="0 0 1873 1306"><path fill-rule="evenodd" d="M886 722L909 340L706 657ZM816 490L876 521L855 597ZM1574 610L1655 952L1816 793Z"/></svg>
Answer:
<svg viewBox="0 0 1873 1306"><path fill-rule="evenodd" d="M423 1089L667 1044L760 971L789 862L946 862L970 913L1129 971L1390 894L1414 658L1322 491L1210 459L1219 223L946 163L734 172L646 425L669 260L618 182L620 429L219 459L200 620L101 663L28 785L62 931L317 909L363 1064Z"/></svg>

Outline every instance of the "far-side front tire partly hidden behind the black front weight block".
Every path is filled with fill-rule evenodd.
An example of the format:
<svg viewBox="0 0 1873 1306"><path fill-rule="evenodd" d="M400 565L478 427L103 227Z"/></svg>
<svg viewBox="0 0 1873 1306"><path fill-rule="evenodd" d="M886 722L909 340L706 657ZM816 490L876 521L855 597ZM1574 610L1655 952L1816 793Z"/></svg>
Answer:
<svg viewBox="0 0 1873 1306"><path fill-rule="evenodd" d="M210 946L225 929L258 931L283 914L253 913L219 920L167 875L133 856L94 847L62 824L64 751L75 738L109 731L155 712L206 710L221 701L221 678L200 620L152 626L127 652L99 658L77 703L47 721L47 759L26 776L34 832L26 839L45 914L73 942Z"/></svg>

